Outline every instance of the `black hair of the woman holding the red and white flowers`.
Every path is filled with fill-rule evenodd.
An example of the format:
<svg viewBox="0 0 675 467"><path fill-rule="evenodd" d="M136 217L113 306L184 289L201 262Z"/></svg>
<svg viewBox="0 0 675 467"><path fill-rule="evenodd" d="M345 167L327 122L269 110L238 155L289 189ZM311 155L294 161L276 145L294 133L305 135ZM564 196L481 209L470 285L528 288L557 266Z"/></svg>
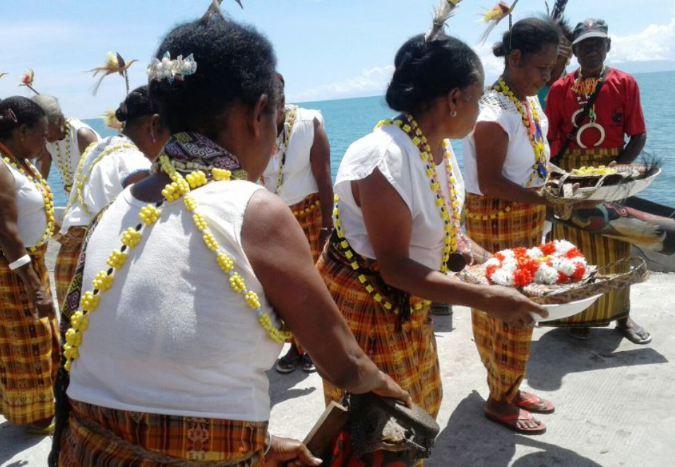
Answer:
<svg viewBox="0 0 675 467"><path fill-rule="evenodd" d="M483 66L476 52L455 37L407 40L396 52L386 100L392 110L417 113L455 88L480 83Z"/></svg>

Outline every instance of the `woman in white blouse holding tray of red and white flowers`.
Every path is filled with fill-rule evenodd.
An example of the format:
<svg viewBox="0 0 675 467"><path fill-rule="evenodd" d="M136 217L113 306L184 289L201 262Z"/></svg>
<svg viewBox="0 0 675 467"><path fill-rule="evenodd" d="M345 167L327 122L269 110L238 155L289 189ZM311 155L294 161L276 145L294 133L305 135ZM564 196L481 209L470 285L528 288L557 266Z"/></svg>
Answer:
<svg viewBox="0 0 675 467"><path fill-rule="evenodd" d="M467 135L478 115L479 58L454 37L417 35L394 65L386 99L401 114L352 143L342 159L335 232L317 266L362 348L436 417L442 389L431 301L483 307L520 325L542 308L515 290L447 274L463 262L463 189L447 140ZM466 256L486 259L481 249ZM324 395L328 403L342 391L324 382Z"/></svg>

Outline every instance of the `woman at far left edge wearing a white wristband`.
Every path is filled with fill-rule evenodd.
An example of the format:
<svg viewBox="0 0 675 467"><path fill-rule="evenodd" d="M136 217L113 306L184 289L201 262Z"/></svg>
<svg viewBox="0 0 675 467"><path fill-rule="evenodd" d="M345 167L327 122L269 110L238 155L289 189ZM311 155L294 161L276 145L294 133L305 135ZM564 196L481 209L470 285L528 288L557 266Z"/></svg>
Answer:
<svg viewBox="0 0 675 467"><path fill-rule="evenodd" d="M25 97L0 102L0 413L47 433L59 334L44 266L54 230L52 193L28 161L44 148L47 118Z"/></svg>

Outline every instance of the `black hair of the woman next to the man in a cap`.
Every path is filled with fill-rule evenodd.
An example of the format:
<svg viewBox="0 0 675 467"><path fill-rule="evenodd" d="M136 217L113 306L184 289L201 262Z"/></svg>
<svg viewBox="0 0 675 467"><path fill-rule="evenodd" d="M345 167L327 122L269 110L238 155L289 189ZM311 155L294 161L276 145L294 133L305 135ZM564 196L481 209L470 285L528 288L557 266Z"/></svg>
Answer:
<svg viewBox="0 0 675 467"><path fill-rule="evenodd" d="M495 57L507 57L513 50L520 50L526 57L541 52L546 45L559 43L558 25L550 17L525 18L504 32L501 42L492 47L492 52Z"/></svg>

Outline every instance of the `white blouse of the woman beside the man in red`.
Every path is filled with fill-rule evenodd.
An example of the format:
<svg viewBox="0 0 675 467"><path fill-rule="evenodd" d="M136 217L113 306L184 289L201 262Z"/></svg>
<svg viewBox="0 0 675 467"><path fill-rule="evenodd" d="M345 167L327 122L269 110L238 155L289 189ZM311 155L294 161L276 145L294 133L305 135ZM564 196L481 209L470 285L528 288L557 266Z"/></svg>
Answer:
<svg viewBox="0 0 675 467"><path fill-rule="evenodd" d="M529 97L530 102L539 112L539 125L544 135L544 146L546 147L546 160L551 158L549 142L546 141L546 135L549 133L549 120L539 105L537 96ZM508 100L508 97L495 90L487 90L480 100L480 114L477 122L494 122L501 126L508 136L508 148L506 150L506 160L504 161L502 174L506 179L525 187L530 180L535 163L534 148L530 143L529 129L522 124L522 117ZM462 158L464 160L464 177L467 192L482 195L478 182L478 167L476 161L476 142L473 132L463 140ZM530 187L537 188L544 184L544 179L535 176Z"/></svg>

